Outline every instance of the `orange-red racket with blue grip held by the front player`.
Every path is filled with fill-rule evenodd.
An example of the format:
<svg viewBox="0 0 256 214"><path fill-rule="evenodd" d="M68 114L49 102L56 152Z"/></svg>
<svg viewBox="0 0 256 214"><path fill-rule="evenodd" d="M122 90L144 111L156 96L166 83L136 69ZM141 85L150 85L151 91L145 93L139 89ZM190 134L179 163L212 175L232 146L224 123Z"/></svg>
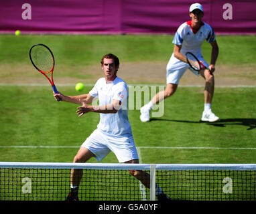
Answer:
<svg viewBox="0 0 256 214"><path fill-rule="evenodd" d="M46 76L46 78L49 80L55 94L58 94L59 92L54 84L54 79L53 79L54 64L55 64L54 54L52 54L52 51L50 50L50 48L41 43L33 45L29 51L29 58L30 58L33 66L39 72L44 74L44 76ZM51 73L51 80L46 75L49 73ZM60 100L58 100L58 101L60 101Z"/></svg>

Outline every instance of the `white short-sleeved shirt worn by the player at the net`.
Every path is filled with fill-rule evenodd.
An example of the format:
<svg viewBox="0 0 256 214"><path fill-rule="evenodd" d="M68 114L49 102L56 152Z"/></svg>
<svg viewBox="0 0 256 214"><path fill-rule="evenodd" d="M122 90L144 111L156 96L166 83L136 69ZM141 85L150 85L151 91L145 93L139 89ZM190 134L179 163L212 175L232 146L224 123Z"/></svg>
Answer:
<svg viewBox="0 0 256 214"><path fill-rule="evenodd" d="M100 114L98 129L111 136L131 137L131 125L128 119L128 88L127 84L117 77L113 82L106 83L105 78L100 78L92 90L90 96L99 98L99 106L111 104L113 100L122 102L121 108L116 114Z"/></svg>

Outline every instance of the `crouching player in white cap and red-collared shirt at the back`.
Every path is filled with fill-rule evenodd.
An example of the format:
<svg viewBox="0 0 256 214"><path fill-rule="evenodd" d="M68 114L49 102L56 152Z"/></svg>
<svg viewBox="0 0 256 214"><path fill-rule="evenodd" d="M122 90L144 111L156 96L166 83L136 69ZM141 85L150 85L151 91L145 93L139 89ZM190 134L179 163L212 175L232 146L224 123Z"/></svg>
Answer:
<svg viewBox="0 0 256 214"><path fill-rule="evenodd" d="M219 120L218 116L216 116L211 109L214 94L214 76L212 73L215 70L215 63L218 57L216 37L212 27L202 21L202 17L204 16L202 5L199 3L190 5L189 12L191 20L180 25L174 36L174 52L166 68L166 89L156 94L148 104L145 104L145 106L141 108L141 122L148 122L150 120L149 114L152 106L172 96L172 94L176 92L180 78L182 78L183 74L189 68L186 62L186 52L192 52L204 65L208 66L201 53L204 40L208 41L212 46L210 66L208 66L210 70L204 69L195 72L189 69L196 74L196 76L202 76L206 81L204 88L204 111L202 112L201 120L206 122Z"/></svg>

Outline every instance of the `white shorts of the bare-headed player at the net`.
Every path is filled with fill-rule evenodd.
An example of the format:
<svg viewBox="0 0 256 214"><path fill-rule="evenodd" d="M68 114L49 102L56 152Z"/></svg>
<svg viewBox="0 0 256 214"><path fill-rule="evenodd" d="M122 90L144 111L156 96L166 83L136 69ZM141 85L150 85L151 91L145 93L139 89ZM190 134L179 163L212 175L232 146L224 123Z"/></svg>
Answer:
<svg viewBox="0 0 256 214"><path fill-rule="evenodd" d="M133 136L130 138L124 136L110 136L96 129L82 144L88 148L98 161L101 161L109 152L113 152L119 163L129 160L139 159Z"/></svg>

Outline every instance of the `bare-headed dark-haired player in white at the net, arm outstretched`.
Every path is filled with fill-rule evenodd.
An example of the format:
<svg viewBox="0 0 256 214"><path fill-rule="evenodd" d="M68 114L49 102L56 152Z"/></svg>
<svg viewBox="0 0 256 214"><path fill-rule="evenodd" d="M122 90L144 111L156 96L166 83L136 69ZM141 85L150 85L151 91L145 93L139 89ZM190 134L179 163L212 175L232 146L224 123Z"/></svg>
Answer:
<svg viewBox="0 0 256 214"><path fill-rule="evenodd" d="M82 104L76 111L79 117L88 112L100 113L97 129L86 138L74 157L74 163L85 163L92 156L101 161L111 151L117 156L119 163L139 163L127 114L127 84L117 77L119 59L113 54L107 54L101 59L101 66L105 78L100 78L88 94L64 96L61 93L54 93L56 100ZM99 106L88 105L94 98L99 98ZM150 187L150 175L145 171L129 172L145 187ZM66 200L78 201L82 170L72 169L70 179L71 190ZM169 199L158 185L156 185L155 193L158 200Z"/></svg>

